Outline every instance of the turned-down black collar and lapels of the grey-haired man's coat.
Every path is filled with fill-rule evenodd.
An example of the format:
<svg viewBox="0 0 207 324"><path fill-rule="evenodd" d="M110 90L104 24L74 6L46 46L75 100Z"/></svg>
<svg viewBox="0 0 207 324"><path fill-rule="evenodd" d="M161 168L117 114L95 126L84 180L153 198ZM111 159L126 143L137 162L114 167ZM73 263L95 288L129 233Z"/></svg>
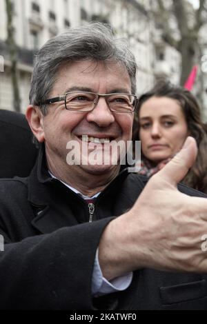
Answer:
<svg viewBox="0 0 207 324"><path fill-rule="evenodd" d="M134 174L135 178L136 176ZM132 206L132 201L142 188L128 174L128 169L121 170L119 175L108 185L96 200L98 219L118 216ZM52 179L46 165L44 145L41 145L34 168L27 179L28 201L35 217L32 226L46 234L63 226L77 225L88 221L88 205L61 181ZM139 181L141 183L141 181ZM125 183L125 185L123 185ZM130 184L132 187L130 187ZM132 194L130 194L132 190ZM117 194L119 192L119 194Z"/></svg>

